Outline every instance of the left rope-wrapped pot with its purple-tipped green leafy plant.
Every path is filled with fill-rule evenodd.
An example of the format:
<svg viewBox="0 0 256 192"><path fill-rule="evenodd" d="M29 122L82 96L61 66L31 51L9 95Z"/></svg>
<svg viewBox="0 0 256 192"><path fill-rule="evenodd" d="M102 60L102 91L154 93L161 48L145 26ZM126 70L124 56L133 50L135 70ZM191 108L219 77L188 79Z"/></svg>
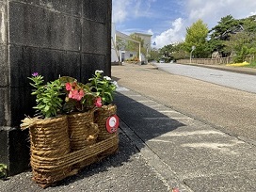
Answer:
<svg viewBox="0 0 256 192"><path fill-rule="evenodd" d="M52 184L69 174L71 168L51 169L42 171L40 163L45 158L58 158L68 154L70 139L68 135L68 119L61 114L62 84L59 79L44 84L43 76L34 72L28 77L34 88L32 95L36 96L36 117L25 118L21 129L29 128L30 136L30 164L33 170L33 179L39 184Z"/></svg>

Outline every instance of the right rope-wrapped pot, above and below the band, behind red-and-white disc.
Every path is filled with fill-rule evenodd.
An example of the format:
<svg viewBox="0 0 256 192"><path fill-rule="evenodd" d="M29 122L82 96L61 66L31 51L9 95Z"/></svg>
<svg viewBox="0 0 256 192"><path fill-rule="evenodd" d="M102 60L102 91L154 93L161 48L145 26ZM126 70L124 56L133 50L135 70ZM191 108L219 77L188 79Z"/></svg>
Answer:
<svg viewBox="0 0 256 192"><path fill-rule="evenodd" d="M118 137L118 132L116 133L109 133L106 130L106 120L110 117L117 114L117 105L116 104L108 104L108 105L103 105L101 108L98 108L95 111L95 123L98 124L99 127L99 135L98 135L98 141L102 141L104 139L107 139L111 136L117 136ZM99 158L104 158L104 156L107 156L111 153L117 152L119 149L119 143L114 145L112 148L108 149L105 152L102 152L99 154Z"/></svg>

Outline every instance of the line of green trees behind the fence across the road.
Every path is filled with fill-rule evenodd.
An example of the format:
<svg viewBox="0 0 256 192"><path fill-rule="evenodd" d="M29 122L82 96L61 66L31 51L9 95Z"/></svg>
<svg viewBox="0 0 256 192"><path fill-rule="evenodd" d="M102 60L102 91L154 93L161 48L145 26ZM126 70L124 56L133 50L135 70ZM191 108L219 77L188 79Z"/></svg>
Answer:
<svg viewBox="0 0 256 192"><path fill-rule="evenodd" d="M192 46L196 46L194 57L211 57L214 52L220 56L233 56L235 61L243 61L247 55L256 55L256 15L245 19L234 19L232 15L222 17L212 29L198 20L186 28L184 42L161 48L174 59L189 56Z"/></svg>

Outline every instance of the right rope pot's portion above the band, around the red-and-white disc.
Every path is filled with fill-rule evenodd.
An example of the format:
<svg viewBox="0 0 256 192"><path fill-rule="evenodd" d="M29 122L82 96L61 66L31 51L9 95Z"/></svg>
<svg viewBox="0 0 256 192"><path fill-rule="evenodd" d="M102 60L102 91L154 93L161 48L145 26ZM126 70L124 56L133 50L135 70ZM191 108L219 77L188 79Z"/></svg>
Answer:
<svg viewBox="0 0 256 192"><path fill-rule="evenodd" d="M116 104L103 105L103 107L98 108L95 112L95 123L99 126L99 136L98 140L104 140L109 136L117 135L117 133L110 134L105 128L105 123L107 118L113 116L117 113Z"/></svg>

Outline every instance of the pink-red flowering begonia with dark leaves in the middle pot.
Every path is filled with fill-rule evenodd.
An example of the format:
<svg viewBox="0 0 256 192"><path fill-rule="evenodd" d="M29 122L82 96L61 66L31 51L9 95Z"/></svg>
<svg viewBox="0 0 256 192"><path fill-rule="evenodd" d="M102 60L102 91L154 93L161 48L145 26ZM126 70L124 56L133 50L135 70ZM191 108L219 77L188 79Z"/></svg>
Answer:
<svg viewBox="0 0 256 192"><path fill-rule="evenodd" d="M65 103L63 111L88 111L93 107L101 107L101 98L98 98L95 93L90 91L87 85L77 82L76 79L63 76L59 78L65 92Z"/></svg>

